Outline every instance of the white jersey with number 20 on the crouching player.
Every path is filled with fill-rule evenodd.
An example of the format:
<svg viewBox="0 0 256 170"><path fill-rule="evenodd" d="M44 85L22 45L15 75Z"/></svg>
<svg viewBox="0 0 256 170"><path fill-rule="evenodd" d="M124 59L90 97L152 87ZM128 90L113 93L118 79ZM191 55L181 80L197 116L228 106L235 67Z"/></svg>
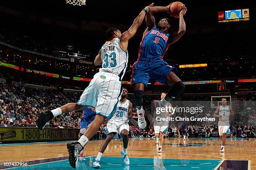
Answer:
<svg viewBox="0 0 256 170"><path fill-rule="evenodd" d="M112 119L121 120L123 122L129 122L129 119L128 119L129 105L130 105L130 100L126 99L125 102L123 103L119 101L117 105L117 109Z"/></svg>

